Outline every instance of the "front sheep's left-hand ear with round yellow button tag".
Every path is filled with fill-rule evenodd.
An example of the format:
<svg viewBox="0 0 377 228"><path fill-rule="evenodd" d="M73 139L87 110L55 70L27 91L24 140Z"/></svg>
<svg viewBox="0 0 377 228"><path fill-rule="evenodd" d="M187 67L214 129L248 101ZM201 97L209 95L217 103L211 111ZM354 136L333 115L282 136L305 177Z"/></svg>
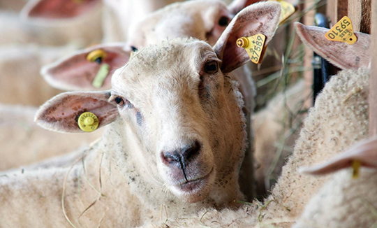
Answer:
<svg viewBox="0 0 377 228"><path fill-rule="evenodd" d="M78 117L91 112L98 117L98 128L103 127L119 115L117 106L111 104L109 98L110 91L65 92L40 106L34 121L52 131L84 132L78 127Z"/></svg>

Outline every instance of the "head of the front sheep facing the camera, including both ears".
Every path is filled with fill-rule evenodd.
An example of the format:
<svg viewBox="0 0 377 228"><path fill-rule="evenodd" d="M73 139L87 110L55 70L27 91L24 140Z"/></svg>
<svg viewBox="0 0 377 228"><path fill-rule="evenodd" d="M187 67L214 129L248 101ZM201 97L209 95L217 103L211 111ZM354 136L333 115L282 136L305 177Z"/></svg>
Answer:
<svg viewBox="0 0 377 228"><path fill-rule="evenodd" d="M99 127L116 120L117 157L128 153L122 148L130 143L122 139L132 135L144 170L179 199L205 199L214 188L222 190L225 186L214 184L226 178L234 184L232 194L239 196L244 116L241 95L226 74L249 62L247 52L236 45L239 36L251 29L274 34L280 6L267 4L276 14L268 11L264 17L274 26L249 24L254 15L244 10L213 48L193 38L149 46L115 71L111 91L58 95L40 108L36 121L47 129L80 132L77 118L85 111L98 116Z"/></svg>

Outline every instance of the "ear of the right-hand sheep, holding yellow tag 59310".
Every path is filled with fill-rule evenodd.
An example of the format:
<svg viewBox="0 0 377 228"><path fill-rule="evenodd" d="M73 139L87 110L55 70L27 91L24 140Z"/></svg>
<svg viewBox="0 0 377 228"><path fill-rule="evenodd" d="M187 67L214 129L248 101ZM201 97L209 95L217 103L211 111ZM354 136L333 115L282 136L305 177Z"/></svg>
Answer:
<svg viewBox="0 0 377 228"><path fill-rule="evenodd" d="M325 34L329 29L306 26L299 22L295 22L295 27L302 43L335 66L341 69L369 67L371 62L371 52L369 50L371 38L369 34L355 32L357 41L350 45L348 43L327 40Z"/></svg>

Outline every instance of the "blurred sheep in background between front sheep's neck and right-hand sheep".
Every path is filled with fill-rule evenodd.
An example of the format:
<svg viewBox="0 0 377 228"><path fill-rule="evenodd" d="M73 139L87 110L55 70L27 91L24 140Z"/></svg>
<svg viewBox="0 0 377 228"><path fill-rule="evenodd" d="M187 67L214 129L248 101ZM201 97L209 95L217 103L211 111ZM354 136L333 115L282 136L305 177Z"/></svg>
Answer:
<svg viewBox="0 0 377 228"><path fill-rule="evenodd" d="M280 176L285 159L297 140L305 113L300 113L307 90L304 80L276 95L266 108L254 113L255 175L257 196L264 196ZM281 143L276 144L276 143Z"/></svg>

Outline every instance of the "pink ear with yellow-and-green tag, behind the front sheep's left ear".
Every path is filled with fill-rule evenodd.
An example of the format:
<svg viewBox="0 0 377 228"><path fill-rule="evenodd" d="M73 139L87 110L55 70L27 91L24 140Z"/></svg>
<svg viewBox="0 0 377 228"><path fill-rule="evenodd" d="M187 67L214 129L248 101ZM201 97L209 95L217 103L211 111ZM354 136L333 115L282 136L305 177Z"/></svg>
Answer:
<svg viewBox="0 0 377 228"><path fill-rule="evenodd" d="M77 51L71 56L44 66L40 74L47 83L60 90L108 90L111 87L111 76L114 71L124 66L130 58L132 50L125 49L124 45L124 43L95 45L86 50ZM101 58L101 64L87 59L90 53L96 51L105 53L105 57ZM94 78L104 64L109 66L106 70L108 74L101 87L94 87Z"/></svg>

